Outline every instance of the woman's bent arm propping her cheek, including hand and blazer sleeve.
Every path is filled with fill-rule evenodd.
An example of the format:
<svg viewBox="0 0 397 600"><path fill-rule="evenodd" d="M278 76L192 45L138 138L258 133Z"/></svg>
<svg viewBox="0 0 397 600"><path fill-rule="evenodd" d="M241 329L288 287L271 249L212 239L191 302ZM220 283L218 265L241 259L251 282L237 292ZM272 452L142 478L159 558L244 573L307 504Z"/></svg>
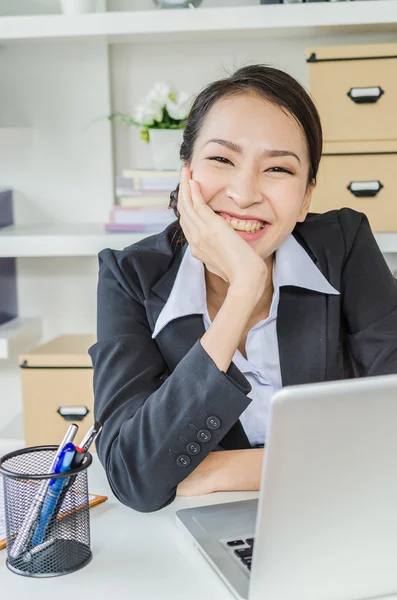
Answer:
<svg viewBox="0 0 397 600"><path fill-rule="evenodd" d="M181 219L200 260L226 276L230 294L202 343L197 339L171 373L151 337L135 272L135 256L143 268L139 248L99 255L98 341L89 349L94 415L103 424L97 450L114 494L141 511L172 502L177 486L215 450L251 402L251 386L231 359L266 284L264 261L198 190L192 202L186 177L181 187ZM199 453L187 456L188 444L197 441L209 415L219 417L220 427Z"/></svg>

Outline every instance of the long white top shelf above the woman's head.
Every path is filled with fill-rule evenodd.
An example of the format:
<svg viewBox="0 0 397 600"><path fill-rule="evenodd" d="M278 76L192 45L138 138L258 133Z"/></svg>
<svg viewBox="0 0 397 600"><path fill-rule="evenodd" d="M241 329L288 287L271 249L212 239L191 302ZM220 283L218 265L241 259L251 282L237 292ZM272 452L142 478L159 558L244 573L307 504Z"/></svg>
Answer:
<svg viewBox="0 0 397 600"><path fill-rule="evenodd" d="M105 37L109 43L396 32L397 0L0 17L0 42Z"/></svg>

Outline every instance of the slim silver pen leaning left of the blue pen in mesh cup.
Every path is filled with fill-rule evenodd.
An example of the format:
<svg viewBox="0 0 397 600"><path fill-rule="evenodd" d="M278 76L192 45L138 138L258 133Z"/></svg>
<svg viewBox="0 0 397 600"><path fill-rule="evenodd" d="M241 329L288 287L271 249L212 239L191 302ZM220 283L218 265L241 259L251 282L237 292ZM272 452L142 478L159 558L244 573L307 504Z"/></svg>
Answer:
<svg viewBox="0 0 397 600"><path fill-rule="evenodd" d="M56 454L51 463L51 466L50 466L51 473L54 472L55 466L58 463L58 460L62 453L63 448L66 446L66 444L68 444L69 442L72 442L74 440L77 430L78 430L78 426L75 425L74 423L69 425L68 430L65 434L65 437L63 438L62 442L60 443L58 450L56 451ZM37 491L37 494L36 494L32 504L30 505L30 508L26 514L26 517L23 520L21 529L19 530L18 535L16 536L15 541L9 551L9 556L11 559L17 558L20 554L22 554L25 551L25 549L30 541L33 528L35 527L37 519L39 518L41 507L43 505L49 483L50 483L50 479L45 479L41 482L40 487Z"/></svg>

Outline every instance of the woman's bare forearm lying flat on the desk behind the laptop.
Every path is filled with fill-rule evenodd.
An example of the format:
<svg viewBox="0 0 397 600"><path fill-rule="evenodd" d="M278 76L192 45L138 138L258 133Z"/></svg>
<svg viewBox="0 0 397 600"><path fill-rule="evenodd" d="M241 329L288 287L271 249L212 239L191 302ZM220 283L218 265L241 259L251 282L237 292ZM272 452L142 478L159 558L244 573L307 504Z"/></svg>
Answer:
<svg viewBox="0 0 397 600"><path fill-rule="evenodd" d="M259 490L263 449L211 452L177 488L178 496Z"/></svg>

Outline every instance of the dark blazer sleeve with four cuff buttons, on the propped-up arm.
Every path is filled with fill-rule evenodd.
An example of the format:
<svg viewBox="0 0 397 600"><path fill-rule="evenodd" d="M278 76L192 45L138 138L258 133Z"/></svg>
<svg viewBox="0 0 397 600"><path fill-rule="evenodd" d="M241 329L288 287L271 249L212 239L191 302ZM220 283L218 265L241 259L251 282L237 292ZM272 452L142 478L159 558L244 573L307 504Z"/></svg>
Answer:
<svg viewBox="0 0 397 600"><path fill-rule="evenodd" d="M114 252L100 252L97 342L89 355L94 414L103 425L99 459L115 496L150 512L172 502L178 484L216 448L251 402L251 386L233 363L220 371L199 340L169 374L133 287ZM208 428L210 416L218 428ZM186 446L200 429L211 439L191 456Z"/></svg>

